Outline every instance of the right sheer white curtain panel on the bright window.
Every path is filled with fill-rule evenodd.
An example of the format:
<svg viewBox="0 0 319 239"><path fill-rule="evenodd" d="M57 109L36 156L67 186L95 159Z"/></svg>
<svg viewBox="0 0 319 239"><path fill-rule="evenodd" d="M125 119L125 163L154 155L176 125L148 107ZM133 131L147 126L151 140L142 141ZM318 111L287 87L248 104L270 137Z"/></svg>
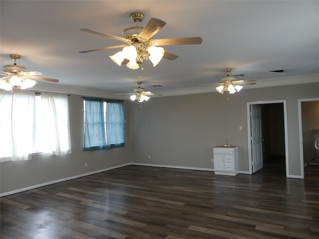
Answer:
<svg viewBox="0 0 319 239"><path fill-rule="evenodd" d="M41 115L44 154L71 153L68 96L41 93Z"/></svg>

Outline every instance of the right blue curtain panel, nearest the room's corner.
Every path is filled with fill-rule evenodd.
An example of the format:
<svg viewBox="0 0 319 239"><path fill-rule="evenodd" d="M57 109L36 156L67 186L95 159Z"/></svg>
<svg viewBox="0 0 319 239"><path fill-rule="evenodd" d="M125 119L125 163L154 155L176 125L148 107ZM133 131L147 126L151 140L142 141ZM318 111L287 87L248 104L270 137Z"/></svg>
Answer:
<svg viewBox="0 0 319 239"><path fill-rule="evenodd" d="M106 135L107 148L125 146L123 101L107 100Z"/></svg>

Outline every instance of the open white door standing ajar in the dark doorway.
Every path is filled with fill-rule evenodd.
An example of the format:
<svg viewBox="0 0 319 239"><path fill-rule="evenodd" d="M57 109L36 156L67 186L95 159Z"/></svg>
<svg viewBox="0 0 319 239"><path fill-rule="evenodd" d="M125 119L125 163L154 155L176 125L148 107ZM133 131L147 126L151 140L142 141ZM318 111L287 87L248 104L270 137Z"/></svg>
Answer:
<svg viewBox="0 0 319 239"><path fill-rule="evenodd" d="M263 138L261 131L261 106L251 105L251 146L253 173L263 168Z"/></svg>

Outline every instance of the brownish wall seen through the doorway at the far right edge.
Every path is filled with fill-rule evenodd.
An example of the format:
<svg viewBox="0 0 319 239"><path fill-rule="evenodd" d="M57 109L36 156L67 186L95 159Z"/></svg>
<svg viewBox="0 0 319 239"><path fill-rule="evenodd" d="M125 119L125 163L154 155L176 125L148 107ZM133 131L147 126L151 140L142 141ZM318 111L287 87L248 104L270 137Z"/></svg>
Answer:
<svg viewBox="0 0 319 239"><path fill-rule="evenodd" d="M301 106L304 162L309 163L317 156L315 140L319 138L319 133L314 131L314 129L319 128L319 101L302 102Z"/></svg>

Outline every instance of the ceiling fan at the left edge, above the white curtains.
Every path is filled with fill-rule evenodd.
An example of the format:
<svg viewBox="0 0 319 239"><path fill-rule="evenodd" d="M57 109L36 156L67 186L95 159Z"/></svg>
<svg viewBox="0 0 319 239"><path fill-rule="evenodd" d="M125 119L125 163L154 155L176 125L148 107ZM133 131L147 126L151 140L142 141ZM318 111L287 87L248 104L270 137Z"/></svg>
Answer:
<svg viewBox="0 0 319 239"><path fill-rule="evenodd" d="M43 75L43 73L38 71L26 72L26 68L24 66L16 64L16 61L21 58L20 55L11 54L10 58L14 60L14 64L3 66L3 71L0 72L0 75L4 76L0 78L0 89L2 90L11 91L12 89L17 88L22 90L31 88L36 83L34 80L59 82L59 80L56 79L39 76Z"/></svg>

